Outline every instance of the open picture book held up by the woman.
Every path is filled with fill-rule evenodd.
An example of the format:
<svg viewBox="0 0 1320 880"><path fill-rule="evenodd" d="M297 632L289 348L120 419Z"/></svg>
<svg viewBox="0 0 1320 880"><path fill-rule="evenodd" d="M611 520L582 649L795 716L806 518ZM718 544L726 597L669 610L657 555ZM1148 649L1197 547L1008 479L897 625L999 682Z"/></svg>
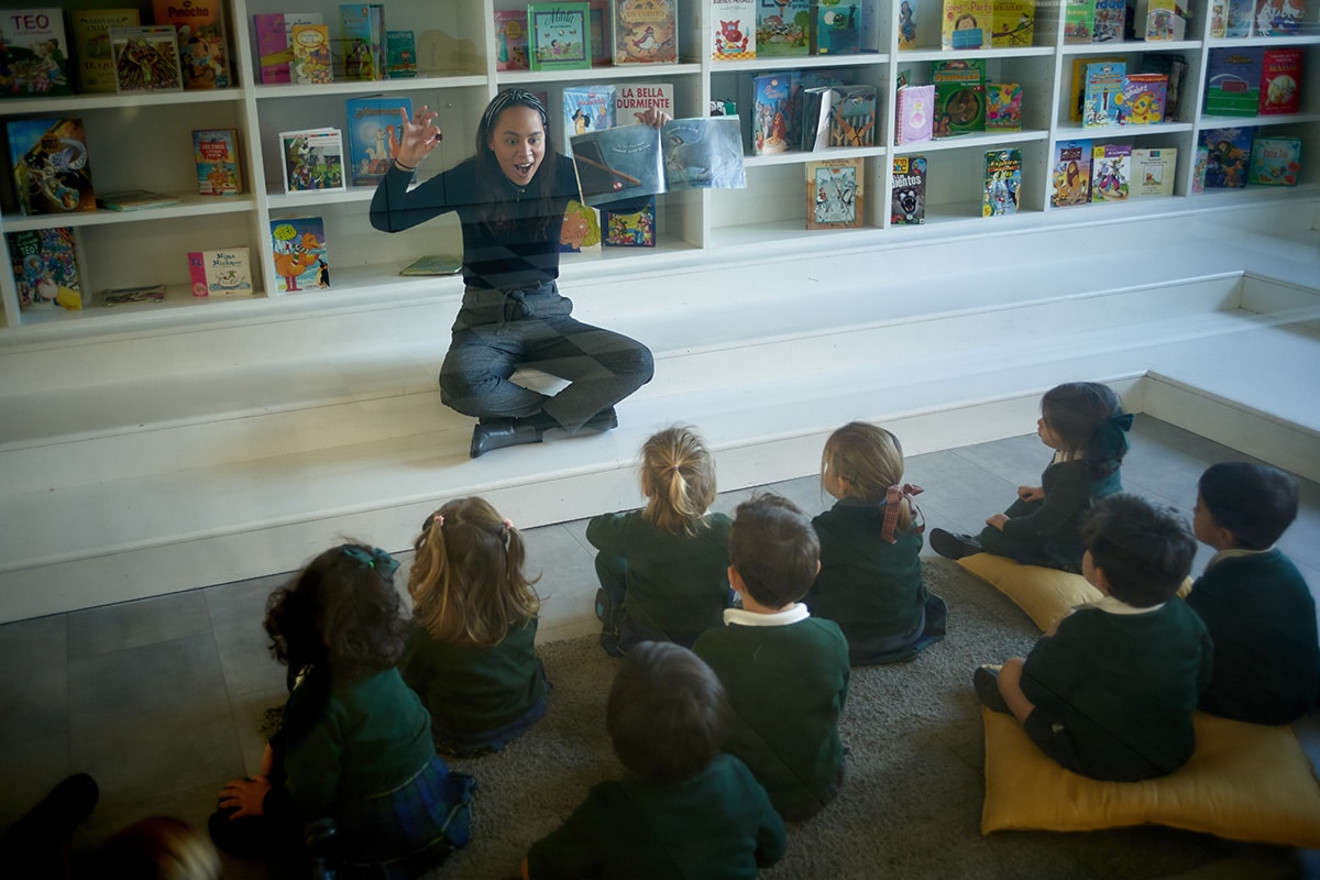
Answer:
<svg viewBox="0 0 1320 880"><path fill-rule="evenodd" d="M591 207L675 190L744 189L737 116L620 125L573 139L582 201Z"/></svg>

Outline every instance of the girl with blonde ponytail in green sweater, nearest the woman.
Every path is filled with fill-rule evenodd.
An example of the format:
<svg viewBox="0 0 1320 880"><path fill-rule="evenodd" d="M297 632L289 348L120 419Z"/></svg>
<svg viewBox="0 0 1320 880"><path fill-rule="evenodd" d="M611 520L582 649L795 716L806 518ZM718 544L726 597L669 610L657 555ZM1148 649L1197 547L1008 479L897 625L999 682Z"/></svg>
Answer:
<svg viewBox="0 0 1320 880"><path fill-rule="evenodd" d="M729 607L729 528L715 500L715 462L701 435L676 425L642 447L645 508L603 513L586 526L599 553L595 612L601 646L623 654L639 641L690 648Z"/></svg>

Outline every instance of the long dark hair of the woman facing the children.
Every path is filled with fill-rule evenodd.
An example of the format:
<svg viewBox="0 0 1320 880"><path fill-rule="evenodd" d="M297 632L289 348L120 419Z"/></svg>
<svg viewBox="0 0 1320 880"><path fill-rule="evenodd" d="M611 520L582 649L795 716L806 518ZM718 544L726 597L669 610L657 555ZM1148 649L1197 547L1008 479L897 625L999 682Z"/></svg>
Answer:
<svg viewBox="0 0 1320 880"><path fill-rule="evenodd" d="M488 195L483 204L477 206L477 214L486 231L496 235L504 231L515 218L515 206L519 201L508 198L512 182L504 175L499 160L490 148L490 139L495 135L495 125L499 124L500 115L511 107L528 107L541 117L545 154L541 157L541 165L536 169L536 177L532 178L527 190L529 198L535 201L535 210L531 211L533 228L537 235L543 235L550 222L558 219L556 216L558 212L554 210L554 168L558 152L550 137L550 117L545 104L525 88L506 88L495 95L486 106L480 123L477 125L477 152L473 164L477 169L479 191ZM523 215L521 211L517 214Z"/></svg>

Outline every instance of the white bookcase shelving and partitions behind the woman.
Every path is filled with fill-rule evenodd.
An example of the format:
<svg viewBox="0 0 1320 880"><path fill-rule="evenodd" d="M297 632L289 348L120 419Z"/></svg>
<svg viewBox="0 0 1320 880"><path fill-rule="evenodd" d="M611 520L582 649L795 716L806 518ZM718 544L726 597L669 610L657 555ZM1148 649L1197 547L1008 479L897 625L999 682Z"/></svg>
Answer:
<svg viewBox="0 0 1320 880"><path fill-rule="evenodd" d="M385 21L391 29L411 29L416 38L418 75L413 79L345 82L330 84L265 84L259 77L252 16L255 13L318 11L334 36L338 25L337 0L224 0L228 44L235 84L215 91L183 91L137 95L73 95L0 100L0 117L83 119L92 179L99 193L127 189L165 191L180 197L169 207L132 212L96 210L70 215L18 212L12 182L4 187L0 231L40 230L57 226L74 228L81 263L82 311L21 310L17 284L11 272L0 272L3 326L0 332L21 339L25 327L69 326L88 332L132 329L170 314L170 322L186 326L213 315L242 314L260 319L272 301L289 297L326 297L335 303L355 298L388 298L391 292L418 290L436 282L401 278L399 269L425 253L457 253L461 235L453 216L441 218L397 235L374 231L367 218L372 187L348 186L338 193L286 194L282 186L279 133L300 128L346 128L345 100L367 95L407 95L413 107L426 104L440 111L444 141L428 158L420 177L453 168L470 154L477 120L486 102L500 88L520 86L544 92L552 127L560 117L562 91L582 83L647 84L673 87L675 115L705 115L711 100L734 100L750 111L751 78L780 70L834 73L854 83L876 87L876 128L873 146L836 148L825 153L793 150L774 156L751 156L746 190L686 191L657 199L657 243L651 249L606 249L602 253L565 255L565 268L576 261L607 261L605 270L626 276L663 268L676 253L711 252L723 248L772 249L781 243L803 243L810 236L836 236L840 243L863 244L927 235L923 226L891 226L890 168L895 156L925 156L927 226L940 235L977 235L986 224L1012 224L1022 218L981 216L982 164L991 149L1015 148L1022 152L1020 212L1035 214L1043 222L1057 218L1049 204L1051 165L1057 144L1090 140L1135 146L1177 149L1173 197L1144 199L1133 204L1090 204L1064 211L1068 223L1106 222L1140 211L1193 210L1203 199L1288 198L1298 190L1217 190L1195 193L1195 146L1205 129L1228 125L1253 127L1271 136L1303 140L1302 190L1313 193L1320 181L1320 1L1307 4L1302 32L1291 37L1220 38L1210 37L1208 0L1192 0L1184 40L1176 42L1119 41L1074 45L1064 40L1063 4L1036 3L1035 33L1030 45L945 51L940 49L941 4L916 0L909 4L916 24L913 49L900 50L899 0L855 0L866 7L869 28L861 38L859 54L758 57L750 61L710 58L711 0L677 0L676 63L597 66L589 70L499 70L496 62L495 13L525 9L516 0L385 0ZM37 4L40 5L40 4ZM55 5L55 4L50 4ZM70 0L65 9L139 5L143 21L150 21L150 4L141 0ZM601 5L601 4L598 4ZM29 9L33 4L0 0L0 11ZM603 7L607 11L607 5ZM1302 111L1287 116L1216 117L1204 112L1206 58L1216 46L1299 46L1305 57L1305 84ZM1074 61L1094 57L1123 58L1139 66L1148 53L1177 53L1187 63L1181 103L1176 119L1155 125L1082 128L1069 119ZM900 78L915 84L931 82L932 62L958 57L983 58L987 79L1022 86L1023 119L1020 132L975 133L935 139L917 144L895 142L895 91ZM244 173L244 193L238 197L197 194L190 132L195 128L234 128L239 132L239 153ZM554 131L553 137L562 137ZM805 228L804 179L807 162L816 158L861 157L863 160L863 226L853 230ZM1155 207L1152 207L1155 206ZM1125 214L1126 212L1126 214ZM331 293L282 294L269 257L272 220L317 215L323 218L333 264ZM999 227L1006 228L1006 227ZM213 302L195 298L189 289L185 255L189 251L247 247L252 255L257 293L249 298ZM13 255L8 255L12 261ZM162 305L100 309L99 292L164 284ZM457 284L446 280L442 284ZM315 307L309 305L308 307ZM176 311L186 309L186 311ZM86 322L92 322L87 325ZM57 335L61 331L54 331Z"/></svg>

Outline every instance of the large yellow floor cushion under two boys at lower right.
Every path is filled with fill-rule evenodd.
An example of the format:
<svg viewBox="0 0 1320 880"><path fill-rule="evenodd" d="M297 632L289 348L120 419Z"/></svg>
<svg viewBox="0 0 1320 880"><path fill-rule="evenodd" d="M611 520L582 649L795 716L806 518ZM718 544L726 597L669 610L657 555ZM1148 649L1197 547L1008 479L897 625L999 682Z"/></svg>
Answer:
<svg viewBox="0 0 1320 880"><path fill-rule="evenodd" d="M981 833L1167 825L1233 840L1320 847L1320 784L1291 726L1196 712L1196 753L1175 773L1098 782L1045 757L1011 715L982 707Z"/></svg>

